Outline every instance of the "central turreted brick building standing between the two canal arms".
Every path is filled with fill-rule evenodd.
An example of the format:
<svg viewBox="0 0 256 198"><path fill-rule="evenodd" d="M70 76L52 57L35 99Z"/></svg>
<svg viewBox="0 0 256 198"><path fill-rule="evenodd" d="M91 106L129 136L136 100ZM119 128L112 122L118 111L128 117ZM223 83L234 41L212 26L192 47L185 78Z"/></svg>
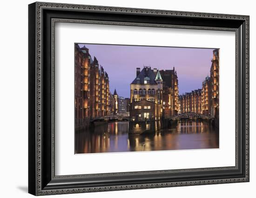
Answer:
<svg viewBox="0 0 256 198"><path fill-rule="evenodd" d="M178 113L178 78L175 70L152 70L149 66L144 66L142 70L136 68L136 78L130 84L130 90L131 119L161 119ZM144 109L152 105L154 107Z"/></svg>

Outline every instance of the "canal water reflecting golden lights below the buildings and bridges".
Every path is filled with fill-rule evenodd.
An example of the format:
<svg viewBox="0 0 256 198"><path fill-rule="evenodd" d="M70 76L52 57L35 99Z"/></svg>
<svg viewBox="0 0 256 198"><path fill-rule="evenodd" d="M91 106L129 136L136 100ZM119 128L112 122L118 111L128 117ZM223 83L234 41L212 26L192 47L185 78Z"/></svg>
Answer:
<svg viewBox="0 0 256 198"><path fill-rule="evenodd" d="M75 132L75 153L219 148L219 132L207 121L178 121L154 133L129 135L129 122L101 123Z"/></svg>

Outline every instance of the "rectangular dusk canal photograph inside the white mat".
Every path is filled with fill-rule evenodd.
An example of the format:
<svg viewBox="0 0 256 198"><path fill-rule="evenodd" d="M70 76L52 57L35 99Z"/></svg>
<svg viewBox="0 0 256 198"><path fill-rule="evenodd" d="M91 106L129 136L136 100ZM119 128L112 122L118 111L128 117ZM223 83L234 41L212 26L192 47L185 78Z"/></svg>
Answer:
<svg viewBox="0 0 256 198"><path fill-rule="evenodd" d="M74 44L74 153L219 148L218 48Z"/></svg>

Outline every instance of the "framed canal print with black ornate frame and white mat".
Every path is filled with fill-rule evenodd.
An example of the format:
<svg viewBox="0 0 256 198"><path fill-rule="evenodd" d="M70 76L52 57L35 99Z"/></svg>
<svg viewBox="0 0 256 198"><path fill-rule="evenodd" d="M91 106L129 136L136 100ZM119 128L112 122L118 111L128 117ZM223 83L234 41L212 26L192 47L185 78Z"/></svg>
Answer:
<svg viewBox="0 0 256 198"><path fill-rule="evenodd" d="M28 12L29 193L249 182L249 16Z"/></svg>

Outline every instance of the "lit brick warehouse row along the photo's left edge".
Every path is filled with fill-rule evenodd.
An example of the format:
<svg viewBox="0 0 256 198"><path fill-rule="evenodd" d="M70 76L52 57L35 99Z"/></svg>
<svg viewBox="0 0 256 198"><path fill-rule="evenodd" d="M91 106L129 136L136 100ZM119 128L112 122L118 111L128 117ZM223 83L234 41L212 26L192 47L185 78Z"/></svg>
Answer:
<svg viewBox="0 0 256 198"><path fill-rule="evenodd" d="M98 60L86 46L75 45L75 126L87 127L89 120L110 114L109 80Z"/></svg>

